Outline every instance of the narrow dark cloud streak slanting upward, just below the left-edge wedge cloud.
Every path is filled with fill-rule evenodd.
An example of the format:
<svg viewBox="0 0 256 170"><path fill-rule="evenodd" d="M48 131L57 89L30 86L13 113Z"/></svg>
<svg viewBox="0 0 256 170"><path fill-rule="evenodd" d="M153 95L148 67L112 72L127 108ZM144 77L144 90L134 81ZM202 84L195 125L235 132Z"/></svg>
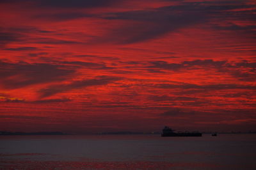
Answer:
<svg viewBox="0 0 256 170"><path fill-rule="evenodd" d="M90 87L96 85L107 85L108 83L112 83L113 81L118 80L121 80L121 78L115 76L97 76L96 78L90 80L73 81L72 83L67 85L52 85L47 89L41 89L38 92L40 94L40 97L48 97L61 92L67 92L72 89L80 89L83 87Z"/></svg>

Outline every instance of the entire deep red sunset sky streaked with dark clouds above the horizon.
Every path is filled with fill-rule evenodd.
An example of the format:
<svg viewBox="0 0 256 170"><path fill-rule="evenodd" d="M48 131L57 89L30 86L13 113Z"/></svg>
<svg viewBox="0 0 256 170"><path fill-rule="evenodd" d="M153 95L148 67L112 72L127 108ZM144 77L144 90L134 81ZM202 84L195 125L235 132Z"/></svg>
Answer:
<svg viewBox="0 0 256 170"><path fill-rule="evenodd" d="M0 131L254 131L256 3L0 2Z"/></svg>

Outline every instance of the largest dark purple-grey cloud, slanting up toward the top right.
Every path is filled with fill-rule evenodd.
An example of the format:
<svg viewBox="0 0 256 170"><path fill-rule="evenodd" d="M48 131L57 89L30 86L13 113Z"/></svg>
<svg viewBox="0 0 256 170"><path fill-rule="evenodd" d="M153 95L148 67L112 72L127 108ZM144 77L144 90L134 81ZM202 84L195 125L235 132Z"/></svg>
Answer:
<svg viewBox="0 0 256 170"><path fill-rule="evenodd" d="M237 11L231 10L250 8L252 8L252 6L246 5L244 2L225 4L221 2L190 3L181 1L179 4L172 6L164 6L150 10L108 13L102 15L102 17L108 20L129 21L129 24L113 30L108 36L108 41L129 44L158 38L169 32L179 31L191 25L209 24L211 20L214 19L223 20L223 18L237 18ZM252 15L253 12L248 12L247 14L239 13L238 18L241 18L241 20L252 20ZM248 27L246 30L248 29L253 31L253 27Z"/></svg>

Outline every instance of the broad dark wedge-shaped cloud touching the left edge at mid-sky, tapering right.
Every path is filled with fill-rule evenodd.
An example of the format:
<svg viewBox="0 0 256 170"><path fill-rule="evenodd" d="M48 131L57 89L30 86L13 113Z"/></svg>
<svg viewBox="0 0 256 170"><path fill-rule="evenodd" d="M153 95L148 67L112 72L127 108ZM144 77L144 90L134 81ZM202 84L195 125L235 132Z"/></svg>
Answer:
<svg viewBox="0 0 256 170"><path fill-rule="evenodd" d="M17 89L37 83L61 81L75 71L59 65L26 62L8 63L0 61L0 82L5 89Z"/></svg>

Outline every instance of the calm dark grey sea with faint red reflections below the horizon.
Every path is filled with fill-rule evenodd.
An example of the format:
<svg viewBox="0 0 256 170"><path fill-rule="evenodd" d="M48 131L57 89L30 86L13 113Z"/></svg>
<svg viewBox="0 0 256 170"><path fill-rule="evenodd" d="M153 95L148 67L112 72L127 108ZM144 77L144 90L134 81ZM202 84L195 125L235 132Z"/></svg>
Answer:
<svg viewBox="0 0 256 170"><path fill-rule="evenodd" d="M256 134L0 136L0 169L256 169Z"/></svg>

